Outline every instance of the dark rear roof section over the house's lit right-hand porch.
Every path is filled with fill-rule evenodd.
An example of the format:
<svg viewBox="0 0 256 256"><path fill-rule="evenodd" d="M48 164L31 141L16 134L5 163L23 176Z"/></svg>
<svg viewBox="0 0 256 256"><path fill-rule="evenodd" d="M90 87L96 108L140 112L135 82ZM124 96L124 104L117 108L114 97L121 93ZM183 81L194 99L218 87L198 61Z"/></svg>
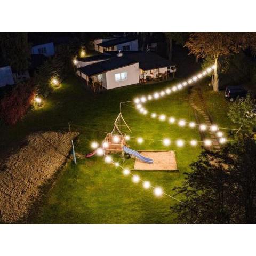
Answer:
<svg viewBox="0 0 256 256"><path fill-rule="evenodd" d="M116 51L108 51L108 53L117 54ZM123 57L139 62L139 68L143 70L175 66L173 61L167 60L154 52L123 51L122 53Z"/></svg>

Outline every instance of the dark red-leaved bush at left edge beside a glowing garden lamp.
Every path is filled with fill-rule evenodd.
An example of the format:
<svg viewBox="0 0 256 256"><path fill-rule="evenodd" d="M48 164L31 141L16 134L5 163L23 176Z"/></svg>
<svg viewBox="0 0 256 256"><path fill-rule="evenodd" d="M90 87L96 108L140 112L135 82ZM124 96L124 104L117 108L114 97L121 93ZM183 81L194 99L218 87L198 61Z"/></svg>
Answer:
<svg viewBox="0 0 256 256"><path fill-rule="evenodd" d="M34 86L19 84L7 91L0 100L0 118L9 125L21 120L35 98Z"/></svg>

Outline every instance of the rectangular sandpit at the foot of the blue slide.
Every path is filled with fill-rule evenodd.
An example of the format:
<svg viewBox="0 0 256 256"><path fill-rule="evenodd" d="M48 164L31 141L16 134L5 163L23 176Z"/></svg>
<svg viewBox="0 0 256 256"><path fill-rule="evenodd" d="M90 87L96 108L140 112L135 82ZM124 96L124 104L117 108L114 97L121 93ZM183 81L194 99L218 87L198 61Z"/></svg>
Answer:
<svg viewBox="0 0 256 256"><path fill-rule="evenodd" d="M136 158L134 170L178 171L174 151L141 151L141 155L153 159L153 164Z"/></svg>

